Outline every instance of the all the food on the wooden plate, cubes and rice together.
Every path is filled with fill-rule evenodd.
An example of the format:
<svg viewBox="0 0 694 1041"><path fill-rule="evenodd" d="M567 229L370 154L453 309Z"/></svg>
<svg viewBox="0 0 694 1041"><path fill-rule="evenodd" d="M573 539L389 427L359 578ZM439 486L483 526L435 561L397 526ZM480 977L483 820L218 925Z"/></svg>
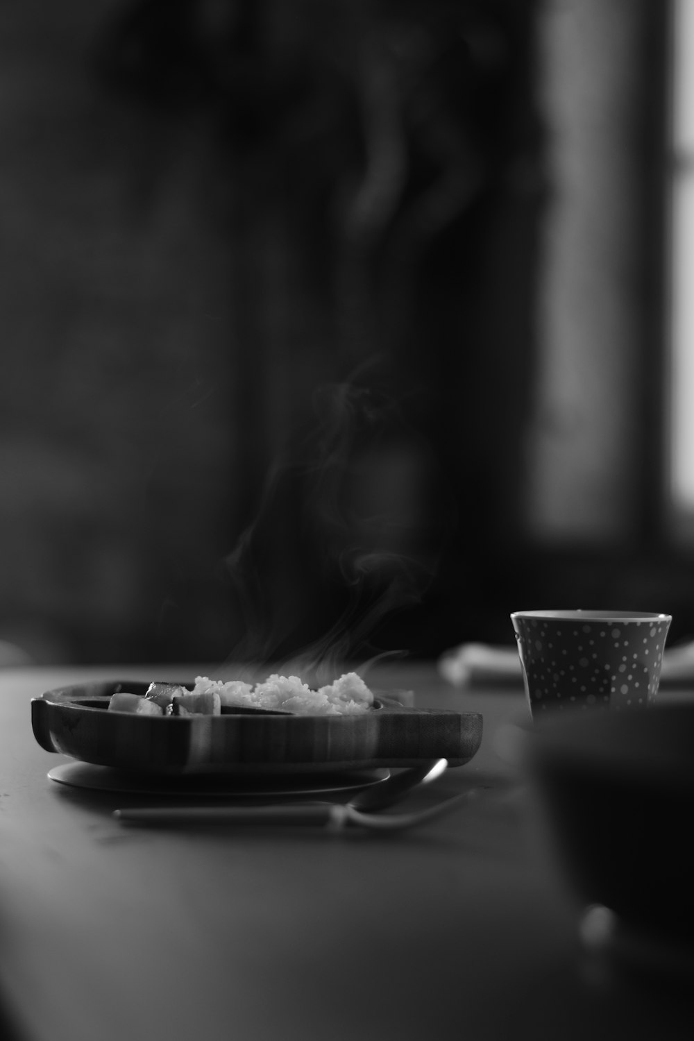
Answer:
<svg viewBox="0 0 694 1041"><path fill-rule="evenodd" d="M317 690L298 676L274 672L262 683L196 678L188 690L174 683L151 683L144 695L111 695L109 709L148 715L221 715L223 708L264 709L294 715L359 715L374 705L374 694L356 672L345 672Z"/></svg>

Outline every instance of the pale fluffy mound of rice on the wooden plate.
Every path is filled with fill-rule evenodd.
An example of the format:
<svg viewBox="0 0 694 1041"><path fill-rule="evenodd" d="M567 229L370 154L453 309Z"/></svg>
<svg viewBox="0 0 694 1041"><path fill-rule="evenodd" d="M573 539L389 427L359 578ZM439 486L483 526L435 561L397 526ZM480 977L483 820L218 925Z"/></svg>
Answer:
<svg viewBox="0 0 694 1041"><path fill-rule="evenodd" d="M295 715L357 715L367 712L374 695L356 672L345 672L334 683L312 690L298 676L273 674L255 687L240 680L210 680L198 676L194 694L217 693L223 706L274 709Z"/></svg>

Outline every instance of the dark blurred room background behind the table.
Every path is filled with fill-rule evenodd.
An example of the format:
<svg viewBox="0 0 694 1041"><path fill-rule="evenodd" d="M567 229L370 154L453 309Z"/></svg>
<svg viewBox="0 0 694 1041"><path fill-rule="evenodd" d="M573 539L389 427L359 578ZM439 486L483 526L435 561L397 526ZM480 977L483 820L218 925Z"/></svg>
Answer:
<svg viewBox="0 0 694 1041"><path fill-rule="evenodd" d="M668 4L0 5L0 639L670 611Z"/></svg>

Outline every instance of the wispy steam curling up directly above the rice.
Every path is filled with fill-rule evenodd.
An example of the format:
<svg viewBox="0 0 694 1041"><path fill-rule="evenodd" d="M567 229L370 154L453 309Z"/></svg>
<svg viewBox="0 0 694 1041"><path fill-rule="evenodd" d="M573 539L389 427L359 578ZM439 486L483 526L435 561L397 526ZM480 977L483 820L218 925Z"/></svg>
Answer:
<svg viewBox="0 0 694 1041"><path fill-rule="evenodd" d="M345 663L363 671L367 659L405 653L370 640L421 601L438 545L427 538L431 459L393 403L342 383L314 405L317 425L277 461L226 566L242 628L229 659L284 662L323 684Z"/></svg>

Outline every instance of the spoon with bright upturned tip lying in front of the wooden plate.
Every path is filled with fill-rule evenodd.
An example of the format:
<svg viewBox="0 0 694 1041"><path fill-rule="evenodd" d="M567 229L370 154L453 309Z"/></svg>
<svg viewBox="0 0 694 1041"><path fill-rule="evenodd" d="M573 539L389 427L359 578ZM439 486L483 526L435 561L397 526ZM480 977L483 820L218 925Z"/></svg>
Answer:
<svg viewBox="0 0 694 1041"><path fill-rule="evenodd" d="M435 781L444 772L447 765L446 759L435 759L421 766L394 773L385 781L360 791L346 804L132 807L114 810L113 816L123 823L323 824L333 831L350 822L361 823L362 818L369 819L376 810L393 806L408 792Z"/></svg>

